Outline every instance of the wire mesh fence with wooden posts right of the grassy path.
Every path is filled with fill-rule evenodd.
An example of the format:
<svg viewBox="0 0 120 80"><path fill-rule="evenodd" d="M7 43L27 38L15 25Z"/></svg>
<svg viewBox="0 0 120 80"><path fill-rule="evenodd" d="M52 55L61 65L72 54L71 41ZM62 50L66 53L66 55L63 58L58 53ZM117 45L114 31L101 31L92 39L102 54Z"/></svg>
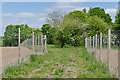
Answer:
<svg viewBox="0 0 120 80"><path fill-rule="evenodd" d="M101 60L109 67L110 73L118 77L118 51L120 44L120 31L110 31L90 36L85 39L88 53Z"/></svg>

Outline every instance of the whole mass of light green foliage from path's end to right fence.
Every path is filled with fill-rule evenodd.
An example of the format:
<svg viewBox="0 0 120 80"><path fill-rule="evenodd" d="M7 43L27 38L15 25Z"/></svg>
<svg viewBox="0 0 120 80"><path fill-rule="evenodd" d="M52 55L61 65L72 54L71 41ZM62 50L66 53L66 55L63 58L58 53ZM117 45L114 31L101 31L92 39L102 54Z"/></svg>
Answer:
<svg viewBox="0 0 120 80"><path fill-rule="evenodd" d="M54 43L61 47L84 46L85 37L105 33L108 28L111 26L98 16L89 16L85 12L74 10L64 16L54 35Z"/></svg>

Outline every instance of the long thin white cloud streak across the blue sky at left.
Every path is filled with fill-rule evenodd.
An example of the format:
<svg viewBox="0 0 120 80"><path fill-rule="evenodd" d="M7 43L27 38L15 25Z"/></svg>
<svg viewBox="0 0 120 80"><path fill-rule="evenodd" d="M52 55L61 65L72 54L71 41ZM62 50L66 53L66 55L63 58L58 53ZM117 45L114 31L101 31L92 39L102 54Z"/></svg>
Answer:
<svg viewBox="0 0 120 80"><path fill-rule="evenodd" d="M28 12L20 12L16 14L12 13L3 13L3 17L20 17L20 18L25 18L25 17L39 17L39 16L45 16L45 13L28 13Z"/></svg>

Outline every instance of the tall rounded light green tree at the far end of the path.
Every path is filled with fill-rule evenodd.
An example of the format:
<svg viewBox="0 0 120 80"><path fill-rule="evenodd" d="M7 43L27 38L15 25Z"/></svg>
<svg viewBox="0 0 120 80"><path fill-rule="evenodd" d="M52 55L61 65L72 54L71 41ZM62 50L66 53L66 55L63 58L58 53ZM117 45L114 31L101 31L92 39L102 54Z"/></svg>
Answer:
<svg viewBox="0 0 120 80"><path fill-rule="evenodd" d="M74 10L68 15L65 15L63 22L57 29L54 42L56 45L63 47L64 45L82 46L84 45L85 21L87 14Z"/></svg>

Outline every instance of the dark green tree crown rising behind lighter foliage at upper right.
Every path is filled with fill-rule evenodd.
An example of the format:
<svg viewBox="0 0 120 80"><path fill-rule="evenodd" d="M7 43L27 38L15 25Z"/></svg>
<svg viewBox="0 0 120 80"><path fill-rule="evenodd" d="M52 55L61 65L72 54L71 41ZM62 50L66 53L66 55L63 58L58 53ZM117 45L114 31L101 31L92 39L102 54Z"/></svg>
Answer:
<svg viewBox="0 0 120 80"><path fill-rule="evenodd" d="M98 17L103 18L107 23L111 23L112 21L111 16L106 14L104 9L100 7L90 8L88 13L90 16L97 15Z"/></svg>

